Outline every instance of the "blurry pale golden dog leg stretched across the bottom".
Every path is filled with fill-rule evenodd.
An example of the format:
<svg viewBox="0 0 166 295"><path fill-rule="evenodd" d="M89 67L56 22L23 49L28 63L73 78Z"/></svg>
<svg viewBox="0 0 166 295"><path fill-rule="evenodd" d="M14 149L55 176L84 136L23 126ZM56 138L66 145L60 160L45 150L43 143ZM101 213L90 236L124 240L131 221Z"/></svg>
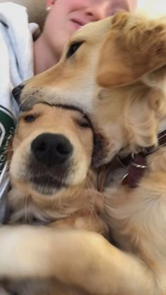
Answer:
<svg viewBox="0 0 166 295"><path fill-rule="evenodd" d="M101 235L27 225L0 230L0 277L57 277L91 294L155 295L150 270Z"/></svg>

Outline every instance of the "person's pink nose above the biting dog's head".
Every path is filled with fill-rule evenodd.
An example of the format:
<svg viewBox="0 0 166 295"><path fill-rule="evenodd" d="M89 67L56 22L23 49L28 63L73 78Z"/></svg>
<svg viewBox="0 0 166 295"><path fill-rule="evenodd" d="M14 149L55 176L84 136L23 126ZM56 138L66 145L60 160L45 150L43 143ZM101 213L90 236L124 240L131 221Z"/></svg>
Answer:
<svg viewBox="0 0 166 295"><path fill-rule="evenodd" d="M108 7L106 4L103 4L102 6L101 4L94 4L86 9L86 14L91 22L95 22L96 20L102 20L103 18L106 18L109 15Z"/></svg>

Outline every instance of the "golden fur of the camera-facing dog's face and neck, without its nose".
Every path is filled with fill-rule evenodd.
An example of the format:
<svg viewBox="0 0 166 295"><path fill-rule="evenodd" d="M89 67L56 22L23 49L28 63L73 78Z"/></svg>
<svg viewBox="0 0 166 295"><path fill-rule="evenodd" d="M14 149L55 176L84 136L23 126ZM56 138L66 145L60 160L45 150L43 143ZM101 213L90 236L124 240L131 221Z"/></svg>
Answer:
<svg viewBox="0 0 166 295"><path fill-rule="evenodd" d="M32 143L46 133L68 138L73 152L67 163L51 165L35 157ZM13 138L9 167L11 223L19 220L31 223L32 218L36 218L53 228L80 226L93 230L94 227L95 231L104 233L104 224L98 215L103 208L102 195L97 190L97 171L91 167L91 159L97 157L97 148L101 147L96 147L94 152L94 144L98 144L94 137L95 130L77 109L38 104L29 112L23 112ZM62 144L60 140L59 145ZM51 178L53 185L49 183Z"/></svg>

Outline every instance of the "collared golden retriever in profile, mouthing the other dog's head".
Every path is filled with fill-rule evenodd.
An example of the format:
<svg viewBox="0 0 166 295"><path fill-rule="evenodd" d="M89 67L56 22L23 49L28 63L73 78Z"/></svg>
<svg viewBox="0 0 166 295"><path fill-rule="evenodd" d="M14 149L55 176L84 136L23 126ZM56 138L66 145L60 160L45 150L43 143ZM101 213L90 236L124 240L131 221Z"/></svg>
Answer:
<svg viewBox="0 0 166 295"><path fill-rule="evenodd" d="M129 157L129 171L105 192L114 244L87 230L4 226L1 277L56 277L90 294L166 294L165 64L165 19L121 12L80 29L56 67L15 89L23 110L44 100L84 104L109 138L97 164Z"/></svg>

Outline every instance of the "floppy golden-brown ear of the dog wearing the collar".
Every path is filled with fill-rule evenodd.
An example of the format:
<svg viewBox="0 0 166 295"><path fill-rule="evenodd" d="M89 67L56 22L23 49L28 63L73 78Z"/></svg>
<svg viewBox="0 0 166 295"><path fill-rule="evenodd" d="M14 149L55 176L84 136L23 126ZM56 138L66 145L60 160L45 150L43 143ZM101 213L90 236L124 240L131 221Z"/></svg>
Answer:
<svg viewBox="0 0 166 295"><path fill-rule="evenodd" d="M103 87L125 86L166 65L166 20L120 12L113 17L98 61Z"/></svg>

